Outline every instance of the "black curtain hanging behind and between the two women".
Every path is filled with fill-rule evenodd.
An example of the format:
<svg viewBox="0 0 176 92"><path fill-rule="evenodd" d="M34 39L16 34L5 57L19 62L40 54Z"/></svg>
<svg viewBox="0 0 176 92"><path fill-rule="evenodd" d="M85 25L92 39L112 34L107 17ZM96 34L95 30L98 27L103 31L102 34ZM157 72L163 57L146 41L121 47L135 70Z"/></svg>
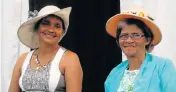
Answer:
<svg viewBox="0 0 176 92"><path fill-rule="evenodd" d="M83 92L104 92L104 81L122 61L121 49L105 31L120 12L120 0L29 0L30 11L46 5L72 6L68 33L60 44L77 53L83 68Z"/></svg>

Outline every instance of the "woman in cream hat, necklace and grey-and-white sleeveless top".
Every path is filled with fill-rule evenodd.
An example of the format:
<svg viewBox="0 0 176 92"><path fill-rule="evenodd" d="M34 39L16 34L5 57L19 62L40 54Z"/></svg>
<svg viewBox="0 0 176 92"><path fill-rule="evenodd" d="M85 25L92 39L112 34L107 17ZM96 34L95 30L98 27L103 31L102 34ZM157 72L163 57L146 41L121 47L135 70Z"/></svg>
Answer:
<svg viewBox="0 0 176 92"><path fill-rule="evenodd" d="M71 7L42 8L18 30L20 41L34 49L22 54L14 67L9 92L81 92L82 68L76 53L58 42L66 34Z"/></svg>

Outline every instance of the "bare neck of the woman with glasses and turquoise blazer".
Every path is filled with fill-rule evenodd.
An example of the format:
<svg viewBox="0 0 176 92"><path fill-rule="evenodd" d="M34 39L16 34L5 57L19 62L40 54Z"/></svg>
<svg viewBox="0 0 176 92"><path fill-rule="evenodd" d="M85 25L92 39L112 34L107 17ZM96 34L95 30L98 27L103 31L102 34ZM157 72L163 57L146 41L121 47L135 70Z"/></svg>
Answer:
<svg viewBox="0 0 176 92"><path fill-rule="evenodd" d="M142 62L145 59L145 54L138 56L127 57L129 63L129 70L138 70L140 69Z"/></svg>

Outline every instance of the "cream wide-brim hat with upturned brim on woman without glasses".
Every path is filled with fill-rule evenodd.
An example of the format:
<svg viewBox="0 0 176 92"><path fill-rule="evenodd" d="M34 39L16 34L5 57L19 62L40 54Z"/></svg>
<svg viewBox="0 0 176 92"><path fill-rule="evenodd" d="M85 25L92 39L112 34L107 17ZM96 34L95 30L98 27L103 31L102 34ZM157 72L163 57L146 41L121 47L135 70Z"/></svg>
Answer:
<svg viewBox="0 0 176 92"><path fill-rule="evenodd" d="M37 32L34 30L35 24L42 18L46 17L47 15L53 14L59 16L63 19L65 24L65 31L60 40L64 37L67 33L67 29L69 26L69 16L71 12L71 7L67 7L64 9L60 9L56 6L45 6L42 8L38 15L26 22L24 22L18 29L18 38L19 40L29 48L35 49L39 47L39 37ZM59 40L59 41L60 41Z"/></svg>

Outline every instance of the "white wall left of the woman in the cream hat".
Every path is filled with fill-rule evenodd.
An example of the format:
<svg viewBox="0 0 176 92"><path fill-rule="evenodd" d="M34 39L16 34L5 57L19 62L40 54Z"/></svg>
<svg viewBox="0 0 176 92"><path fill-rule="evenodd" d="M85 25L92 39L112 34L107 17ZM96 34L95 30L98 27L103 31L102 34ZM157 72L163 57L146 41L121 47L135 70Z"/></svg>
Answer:
<svg viewBox="0 0 176 92"><path fill-rule="evenodd" d="M17 37L19 25L27 19L28 0L2 1L2 91L7 92L12 70L17 57L28 48L21 45Z"/></svg>

